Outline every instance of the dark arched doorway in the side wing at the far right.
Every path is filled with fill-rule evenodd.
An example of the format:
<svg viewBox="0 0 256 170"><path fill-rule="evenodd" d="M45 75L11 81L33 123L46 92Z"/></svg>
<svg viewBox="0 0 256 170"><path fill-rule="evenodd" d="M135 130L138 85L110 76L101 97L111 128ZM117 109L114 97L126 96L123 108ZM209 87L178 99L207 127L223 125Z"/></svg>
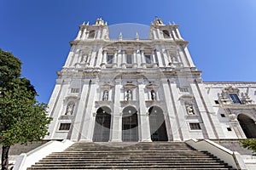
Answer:
<svg viewBox="0 0 256 170"><path fill-rule="evenodd" d="M240 126L247 136L247 139L256 138L256 124L252 118L244 114L237 116L237 120L240 123Z"/></svg>

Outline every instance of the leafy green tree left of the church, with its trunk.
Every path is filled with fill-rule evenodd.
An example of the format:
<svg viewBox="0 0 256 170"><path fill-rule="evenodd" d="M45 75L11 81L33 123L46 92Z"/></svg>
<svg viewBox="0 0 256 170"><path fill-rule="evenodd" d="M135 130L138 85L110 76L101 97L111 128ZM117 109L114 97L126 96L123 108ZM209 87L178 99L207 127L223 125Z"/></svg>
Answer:
<svg viewBox="0 0 256 170"><path fill-rule="evenodd" d="M9 148L13 144L39 141L48 134L51 118L47 105L38 103L35 88L20 78L20 59L0 49L0 144L2 170L9 165Z"/></svg>

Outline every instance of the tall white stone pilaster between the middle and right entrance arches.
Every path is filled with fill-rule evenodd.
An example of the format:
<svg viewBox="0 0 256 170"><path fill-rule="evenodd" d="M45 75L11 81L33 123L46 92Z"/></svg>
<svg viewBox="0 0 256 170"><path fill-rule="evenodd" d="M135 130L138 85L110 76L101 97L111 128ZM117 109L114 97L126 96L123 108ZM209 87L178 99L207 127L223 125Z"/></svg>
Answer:
<svg viewBox="0 0 256 170"><path fill-rule="evenodd" d="M151 142L150 126L148 111L145 104L144 96L144 80L138 79L138 96L139 96L139 114L138 114L138 130L141 132L140 141L141 142Z"/></svg>

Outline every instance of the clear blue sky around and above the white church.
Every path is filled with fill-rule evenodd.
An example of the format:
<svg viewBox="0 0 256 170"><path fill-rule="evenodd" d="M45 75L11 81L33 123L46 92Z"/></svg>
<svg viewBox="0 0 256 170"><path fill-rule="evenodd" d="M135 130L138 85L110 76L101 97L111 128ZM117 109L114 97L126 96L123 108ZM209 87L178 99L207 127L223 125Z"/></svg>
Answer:
<svg viewBox="0 0 256 170"><path fill-rule="evenodd" d="M256 81L255 0L2 0L0 48L22 60L23 77L48 103L68 42L100 16L108 26L174 21L204 81Z"/></svg>

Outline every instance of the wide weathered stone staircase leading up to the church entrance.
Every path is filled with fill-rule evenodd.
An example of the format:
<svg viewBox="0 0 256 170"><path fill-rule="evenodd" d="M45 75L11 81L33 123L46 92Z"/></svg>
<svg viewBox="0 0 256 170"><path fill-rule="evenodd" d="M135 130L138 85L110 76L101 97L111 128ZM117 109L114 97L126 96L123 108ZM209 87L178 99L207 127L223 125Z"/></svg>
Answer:
<svg viewBox="0 0 256 170"><path fill-rule="evenodd" d="M33 169L233 169L183 142L85 143L52 153Z"/></svg>

